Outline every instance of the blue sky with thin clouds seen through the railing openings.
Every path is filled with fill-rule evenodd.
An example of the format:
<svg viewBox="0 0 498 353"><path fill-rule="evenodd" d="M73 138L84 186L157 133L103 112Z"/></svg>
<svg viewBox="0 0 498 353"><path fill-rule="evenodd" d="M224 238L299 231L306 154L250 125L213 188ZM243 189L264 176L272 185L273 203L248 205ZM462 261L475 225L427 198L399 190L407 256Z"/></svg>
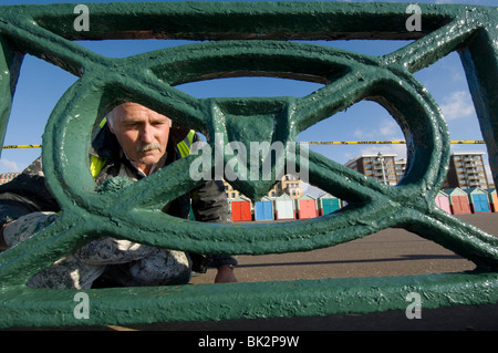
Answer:
<svg viewBox="0 0 498 353"><path fill-rule="evenodd" d="M68 1L35 0L0 0L0 4L19 3L55 3ZM76 1L71 1L75 2ZM82 1L111 2L111 1ZM114 2L117 2L116 0ZM137 1L128 1L137 2ZM355 1L370 2L370 1ZM386 1L402 3L467 3L497 6L498 0L423 0L423 1ZM79 42L106 56L126 56L164 48L178 45L180 41L95 41ZM406 41L333 41L321 42L369 55L387 54L403 45ZM415 74L438 102L443 110L452 139L483 139L473 102L468 93L465 73L456 53L452 53L434 65ZM6 135L6 145L41 144L41 136L46 120L58 100L70 87L76 77L42 60L27 56L23 61L12 112ZM212 96L304 96L321 85L283 79L248 77L224 79L178 86L196 97ZM301 142L328 141L388 141L404 139L400 127L388 113L376 103L361 102L346 112L320 122L299 135ZM350 145L350 146L310 146L324 156L341 164L362 153L396 153L405 157L404 145ZM486 152L485 145L454 145L454 152ZM4 149L0 159L0 173L21 172L40 155L40 149ZM487 154L485 155L487 159Z"/></svg>

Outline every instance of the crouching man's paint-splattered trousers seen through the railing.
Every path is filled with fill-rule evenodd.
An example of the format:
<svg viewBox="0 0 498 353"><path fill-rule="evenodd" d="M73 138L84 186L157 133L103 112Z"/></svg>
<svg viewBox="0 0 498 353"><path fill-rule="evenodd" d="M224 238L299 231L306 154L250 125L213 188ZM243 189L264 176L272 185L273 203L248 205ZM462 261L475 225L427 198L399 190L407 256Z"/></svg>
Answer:
<svg viewBox="0 0 498 353"><path fill-rule="evenodd" d="M48 227L59 216L33 212L9 224L3 238L13 247ZM89 289L100 278L117 285L184 284L190 280L191 261L181 251L159 249L114 238L91 241L33 276L28 285L52 289Z"/></svg>

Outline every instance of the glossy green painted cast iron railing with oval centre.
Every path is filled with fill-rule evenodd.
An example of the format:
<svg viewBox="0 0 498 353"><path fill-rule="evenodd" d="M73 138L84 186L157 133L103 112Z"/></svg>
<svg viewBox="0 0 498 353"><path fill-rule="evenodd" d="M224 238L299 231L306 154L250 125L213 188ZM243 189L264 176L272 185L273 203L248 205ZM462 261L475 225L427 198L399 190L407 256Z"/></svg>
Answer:
<svg viewBox="0 0 498 353"><path fill-rule="evenodd" d="M43 135L46 181L63 212L52 226L0 255L0 326L366 313L405 310L409 292L421 293L427 309L497 302L498 239L434 203L447 173L449 137L437 104L412 75L449 52L460 53L497 183L497 8L421 4L422 31L408 31L406 3L87 3L90 31L76 31L75 6L0 7L2 136L24 53L80 76L59 101ZM104 58L72 42L145 38L209 42L124 59ZM291 41L335 39L414 41L380 58ZM325 85L300 98L199 100L174 89L186 82L242 75ZM295 137L301 131L356 102L372 100L404 132L408 164L400 185L390 187L307 150L307 160L290 155L286 163L307 165L310 184L347 200L346 208L311 220L271 225L181 220L160 208L203 181L189 175L195 155L118 191L95 191L87 167L91 133L118 100L147 105L207 136L221 136L220 147L234 141L247 146L281 142L298 152ZM215 143L209 141L211 147ZM214 169L216 157L211 158ZM273 160L272 168L277 167ZM231 183L256 199L274 179ZM136 195L141 195L138 201ZM25 285L31 276L102 236L200 253L262 255L330 247L390 227L430 239L474 261L477 269L85 291ZM77 292L89 295L89 319L74 315Z"/></svg>

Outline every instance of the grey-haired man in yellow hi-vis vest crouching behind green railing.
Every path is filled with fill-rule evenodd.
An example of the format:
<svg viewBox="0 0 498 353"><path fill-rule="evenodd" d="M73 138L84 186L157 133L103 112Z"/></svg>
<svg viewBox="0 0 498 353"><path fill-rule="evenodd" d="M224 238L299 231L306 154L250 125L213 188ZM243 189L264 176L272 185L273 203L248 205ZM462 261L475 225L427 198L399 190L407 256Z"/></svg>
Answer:
<svg viewBox="0 0 498 353"><path fill-rule="evenodd" d="M91 173L97 185L112 177L138 180L185 157L196 138L193 132L172 127L172 121L162 114L136 103L123 103L107 114L107 124L92 143ZM198 221L230 221L219 181L205 183L165 205L163 211L187 218L190 205ZM0 186L0 240L14 246L53 222L59 210L38 158L20 176ZM101 238L33 276L28 285L86 289L181 284L190 280L193 269L205 271L207 266L218 269L215 282L235 282L235 264L231 256L208 257Z"/></svg>

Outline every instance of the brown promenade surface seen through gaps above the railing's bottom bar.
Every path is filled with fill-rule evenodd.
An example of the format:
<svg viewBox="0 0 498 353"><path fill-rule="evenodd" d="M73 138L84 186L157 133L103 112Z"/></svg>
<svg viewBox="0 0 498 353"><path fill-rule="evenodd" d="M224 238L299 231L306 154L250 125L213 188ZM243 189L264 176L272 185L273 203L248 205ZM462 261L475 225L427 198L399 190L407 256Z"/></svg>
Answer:
<svg viewBox="0 0 498 353"><path fill-rule="evenodd" d="M498 236L498 214L465 215L460 219ZM308 252L239 256L241 282L344 277L408 276L458 272L474 263L404 229L385 229L335 247ZM193 279L212 283L216 271Z"/></svg>

